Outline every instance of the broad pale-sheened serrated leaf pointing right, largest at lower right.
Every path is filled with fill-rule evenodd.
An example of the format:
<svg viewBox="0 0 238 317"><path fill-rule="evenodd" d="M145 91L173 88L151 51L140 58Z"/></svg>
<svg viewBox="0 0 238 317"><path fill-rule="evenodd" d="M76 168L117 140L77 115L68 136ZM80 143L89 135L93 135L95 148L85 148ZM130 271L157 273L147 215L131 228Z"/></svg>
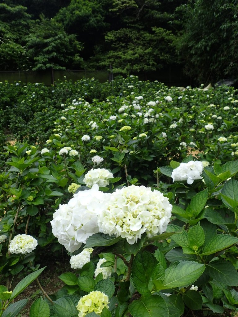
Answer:
<svg viewBox="0 0 238 317"><path fill-rule="evenodd" d="M186 287L196 281L205 270L205 264L181 261L165 270L163 285L166 288Z"/></svg>

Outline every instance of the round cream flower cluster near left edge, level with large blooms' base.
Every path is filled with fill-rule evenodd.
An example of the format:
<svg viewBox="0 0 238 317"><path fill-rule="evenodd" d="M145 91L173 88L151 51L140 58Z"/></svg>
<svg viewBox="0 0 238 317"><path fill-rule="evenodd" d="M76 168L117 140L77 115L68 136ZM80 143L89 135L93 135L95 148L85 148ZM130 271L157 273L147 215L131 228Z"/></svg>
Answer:
<svg viewBox="0 0 238 317"><path fill-rule="evenodd" d="M36 249L38 242L33 236L30 235L17 235L11 241L9 245L9 252L15 254L26 254Z"/></svg>

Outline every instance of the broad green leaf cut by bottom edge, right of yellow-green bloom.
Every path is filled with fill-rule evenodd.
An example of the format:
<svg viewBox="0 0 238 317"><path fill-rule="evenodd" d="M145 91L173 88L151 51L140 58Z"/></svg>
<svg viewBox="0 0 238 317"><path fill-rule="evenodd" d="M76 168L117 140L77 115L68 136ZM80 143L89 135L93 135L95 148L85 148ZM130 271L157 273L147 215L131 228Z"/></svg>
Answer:
<svg viewBox="0 0 238 317"><path fill-rule="evenodd" d="M129 305L132 317L168 317L169 310L165 301L159 295L151 295Z"/></svg>

